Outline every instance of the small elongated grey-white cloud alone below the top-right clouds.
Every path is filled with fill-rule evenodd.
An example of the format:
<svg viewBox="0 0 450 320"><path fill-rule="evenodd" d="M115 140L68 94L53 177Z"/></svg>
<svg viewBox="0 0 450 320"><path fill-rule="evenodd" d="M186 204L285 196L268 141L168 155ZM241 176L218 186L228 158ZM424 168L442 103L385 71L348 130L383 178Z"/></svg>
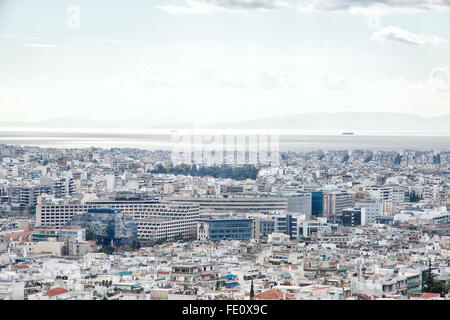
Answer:
<svg viewBox="0 0 450 320"><path fill-rule="evenodd" d="M380 30L373 32L371 39L377 41L402 42L419 46L431 45L435 47L441 46L447 42L434 35L415 34L394 26L383 27Z"/></svg>

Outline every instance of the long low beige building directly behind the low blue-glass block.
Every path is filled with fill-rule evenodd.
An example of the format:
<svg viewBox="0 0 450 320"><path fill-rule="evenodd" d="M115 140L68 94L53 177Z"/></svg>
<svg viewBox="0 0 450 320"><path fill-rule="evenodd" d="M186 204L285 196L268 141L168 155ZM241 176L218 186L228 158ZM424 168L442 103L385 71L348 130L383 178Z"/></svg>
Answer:
<svg viewBox="0 0 450 320"><path fill-rule="evenodd" d="M288 209L287 198L253 195L223 196L172 196L166 198L172 202L195 203L202 210L216 212L273 212Z"/></svg>

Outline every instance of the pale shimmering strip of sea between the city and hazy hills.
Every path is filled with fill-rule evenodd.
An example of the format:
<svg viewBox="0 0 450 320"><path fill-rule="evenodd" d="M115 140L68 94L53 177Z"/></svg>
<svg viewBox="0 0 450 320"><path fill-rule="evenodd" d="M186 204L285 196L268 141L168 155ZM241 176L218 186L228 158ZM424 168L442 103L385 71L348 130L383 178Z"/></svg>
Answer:
<svg viewBox="0 0 450 320"><path fill-rule="evenodd" d="M196 138L236 137L244 141L272 139L281 152L330 150L450 151L449 133L343 132L286 130L170 130L170 129L86 129L86 128L0 128L0 145L41 148L139 148L172 150L176 143ZM253 138L252 138L253 137ZM267 138L270 137L270 138ZM189 140L191 139L191 140ZM245 140L246 139L246 140ZM206 139L208 140L208 139ZM237 140L236 140L237 141Z"/></svg>

